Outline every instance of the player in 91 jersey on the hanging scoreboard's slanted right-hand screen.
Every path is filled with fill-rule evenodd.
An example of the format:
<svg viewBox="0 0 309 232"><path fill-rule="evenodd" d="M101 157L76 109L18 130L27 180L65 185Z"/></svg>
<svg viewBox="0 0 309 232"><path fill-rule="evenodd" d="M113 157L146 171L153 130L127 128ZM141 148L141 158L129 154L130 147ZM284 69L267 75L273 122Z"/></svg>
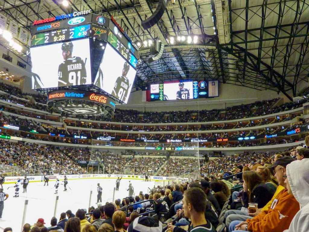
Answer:
<svg viewBox="0 0 309 232"><path fill-rule="evenodd" d="M119 76L115 82L112 95L117 97L121 101L125 101L129 90L129 79L126 77L130 69L130 65L125 62L122 69L122 75Z"/></svg>

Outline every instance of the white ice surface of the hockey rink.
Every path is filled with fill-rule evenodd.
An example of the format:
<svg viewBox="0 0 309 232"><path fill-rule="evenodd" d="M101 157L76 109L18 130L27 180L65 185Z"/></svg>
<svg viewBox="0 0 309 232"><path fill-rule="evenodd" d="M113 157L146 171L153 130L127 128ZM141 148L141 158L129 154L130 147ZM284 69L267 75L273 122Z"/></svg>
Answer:
<svg viewBox="0 0 309 232"><path fill-rule="evenodd" d="M129 180L122 179L120 182L119 191L115 192L115 200L128 196L129 192L126 189L129 186L129 181L131 181L134 188L135 194L139 194L139 191L147 193L149 188L152 188L155 184L154 181L142 181L142 180ZM61 183L61 182L60 182ZM77 179L69 180L68 191L63 191L63 185L60 185L58 188L58 205L56 211L56 217L59 221L60 214L66 212L68 209L72 210L75 214L77 209L86 208L88 210L90 191L92 190L91 195L91 204L90 206L96 207L97 201L97 183L103 188L102 193L102 205L105 202L112 202L113 190L116 187L116 179L105 179L105 178L96 178L96 179ZM14 184L4 184L4 192L9 194L9 198L4 201L4 210L2 214L2 219L0 219L0 232L3 231L6 227L12 227L13 232L19 232L22 228L22 219L23 219L23 210L25 200L28 200L28 207L26 213L25 223L33 225L36 223L38 218L43 218L46 227L50 226L50 219L53 217L56 194L55 188L53 187L55 181L49 181L49 186L44 186L44 182L33 182L29 183L27 188L27 193L22 193L22 187L19 190L19 198L14 198L15 188L8 187L14 186Z"/></svg>

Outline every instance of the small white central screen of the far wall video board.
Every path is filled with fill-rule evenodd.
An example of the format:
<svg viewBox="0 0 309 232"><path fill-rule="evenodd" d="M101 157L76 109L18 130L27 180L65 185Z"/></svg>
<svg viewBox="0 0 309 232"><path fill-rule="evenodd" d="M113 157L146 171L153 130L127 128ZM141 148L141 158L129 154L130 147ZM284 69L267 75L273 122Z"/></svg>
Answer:
<svg viewBox="0 0 309 232"><path fill-rule="evenodd" d="M163 84L164 100L193 99L193 83L176 82Z"/></svg>

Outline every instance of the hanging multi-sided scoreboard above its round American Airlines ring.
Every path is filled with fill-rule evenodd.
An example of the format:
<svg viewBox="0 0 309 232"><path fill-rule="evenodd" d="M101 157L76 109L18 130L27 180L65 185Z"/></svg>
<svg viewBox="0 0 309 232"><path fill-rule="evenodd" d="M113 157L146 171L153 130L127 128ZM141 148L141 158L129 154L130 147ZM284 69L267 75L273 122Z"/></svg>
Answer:
<svg viewBox="0 0 309 232"><path fill-rule="evenodd" d="M32 88L93 86L127 103L138 47L113 18L87 12L58 15L31 26ZM123 77L126 83L121 85Z"/></svg>

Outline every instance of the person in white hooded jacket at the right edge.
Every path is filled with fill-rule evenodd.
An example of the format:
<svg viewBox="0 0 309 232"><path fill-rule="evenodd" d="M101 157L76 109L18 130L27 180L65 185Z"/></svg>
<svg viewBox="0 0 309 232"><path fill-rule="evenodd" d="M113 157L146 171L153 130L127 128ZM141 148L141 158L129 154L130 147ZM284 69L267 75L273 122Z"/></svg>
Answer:
<svg viewBox="0 0 309 232"><path fill-rule="evenodd" d="M284 232L309 231L309 159L297 160L286 166L288 193L293 194L300 204L300 210L294 216L290 227Z"/></svg>

